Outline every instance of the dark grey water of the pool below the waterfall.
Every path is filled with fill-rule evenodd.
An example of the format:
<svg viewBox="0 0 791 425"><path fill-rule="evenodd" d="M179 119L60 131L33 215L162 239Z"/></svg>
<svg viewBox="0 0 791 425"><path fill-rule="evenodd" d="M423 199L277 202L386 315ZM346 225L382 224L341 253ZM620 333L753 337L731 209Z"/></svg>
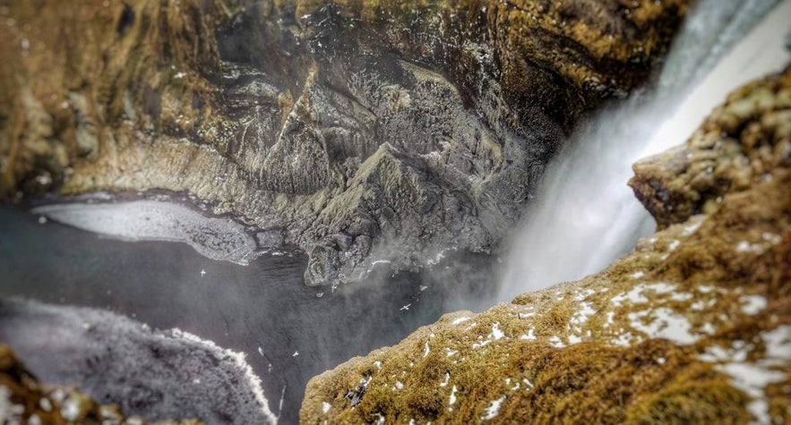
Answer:
<svg viewBox="0 0 791 425"><path fill-rule="evenodd" d="M430 275L381 270L369 282L331 293L303 285L299 253L237 266L206 259L185 244L113 241L41 225L38 218L0 206L0 296L107 309L246 353L274 412L285 388L280 423L297 422L309 378L395 344L444 312L480 309L477 300L494 290L482 281L490 276L486 261L466 259ZM6 337L24 342L26 336ZM56 382L60 353L25 353L35 344L17 345L23 359L30 354L28 366L39 378L64 383Z"/></svg>

